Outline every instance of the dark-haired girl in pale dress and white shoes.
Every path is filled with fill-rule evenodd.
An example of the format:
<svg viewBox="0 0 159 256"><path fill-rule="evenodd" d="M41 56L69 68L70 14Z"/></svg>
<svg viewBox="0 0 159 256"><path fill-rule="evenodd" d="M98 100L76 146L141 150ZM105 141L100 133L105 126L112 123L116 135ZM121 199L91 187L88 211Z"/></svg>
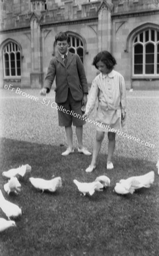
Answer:
<svg viewBox="0 0 159 256"><path fill-rule="evenodd" d="M120 73L114 71L116 64L115 58L110 52L102 51L94 57L93 65L101 72L95 77L86 104L86 112L83 118L89 117L94 109L95 101L98 98L97 108L97 134L93 148L93 157L90 166L86 172L92 172L104 133L108 133L108 158L107 169L113 169L112 155L115 150L115 133L118 131L126 131L126 90L124 78ZM121 133L121 132L120 132Z"/></svg>

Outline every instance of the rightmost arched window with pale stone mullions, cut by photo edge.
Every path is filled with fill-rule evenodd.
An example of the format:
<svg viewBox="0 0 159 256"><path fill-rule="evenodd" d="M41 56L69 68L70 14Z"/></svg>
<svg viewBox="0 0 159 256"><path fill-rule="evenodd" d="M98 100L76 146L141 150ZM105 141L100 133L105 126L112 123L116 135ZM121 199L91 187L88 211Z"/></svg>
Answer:
<svg viewBox="0 0 159 256"><path fill-rule="evenodd" d="M159 75L159 31L147 29L133 39L133 76Z"/></svg>

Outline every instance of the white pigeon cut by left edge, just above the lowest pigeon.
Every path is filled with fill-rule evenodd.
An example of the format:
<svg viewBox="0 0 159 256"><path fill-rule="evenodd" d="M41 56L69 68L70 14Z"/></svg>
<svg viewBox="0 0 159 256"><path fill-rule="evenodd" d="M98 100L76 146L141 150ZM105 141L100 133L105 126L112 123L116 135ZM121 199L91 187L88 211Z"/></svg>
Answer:
<svg viewBox="0 0 159 256"><path fill-rule="evenodd" d="M0 207L2 211L6 214L6 216L9 218L16 218L20 215L22 215L22 210L18 207L18 205L10 203L10 201L7 201L5 197L3 197L2 191L0 189Z"/></svg>

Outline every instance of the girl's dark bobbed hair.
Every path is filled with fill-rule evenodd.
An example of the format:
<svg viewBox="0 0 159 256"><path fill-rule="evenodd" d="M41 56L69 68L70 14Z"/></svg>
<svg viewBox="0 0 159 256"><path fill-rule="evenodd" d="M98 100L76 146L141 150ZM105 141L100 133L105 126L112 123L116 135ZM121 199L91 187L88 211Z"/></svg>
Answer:
<svg viewBox="0 0 159 256"><path fill-rule="evenodd" d="M115 58L108 51L99 52L93 59L93 65L98 69L97 63L102 61L108 69L113 69L116 63Z"/></svg>

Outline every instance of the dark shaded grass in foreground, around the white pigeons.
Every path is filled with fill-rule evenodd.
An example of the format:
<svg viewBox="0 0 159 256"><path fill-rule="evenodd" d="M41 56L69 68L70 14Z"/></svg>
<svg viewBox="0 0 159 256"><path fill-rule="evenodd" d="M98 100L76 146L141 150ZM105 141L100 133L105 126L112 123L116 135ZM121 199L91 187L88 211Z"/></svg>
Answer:
<svg viewBox="0 0 159 256"><path fill-rule="evenodd" d="M133 195L114 192L120 179L156 171L154 163L115 155L115 168L108 171L106 155L100 154L97 169L86 174L91 156L75 152L64 157L64 150L60 145L1 139L1 173L22 164L32 167L31 174L20 180L18 196L5 194L6 180L1 178L5 198L23 210L17 228L0 234L1 256L158 255L158 176L151 188ZM28 180L29 176L51 179L52 175L62 179L56 193L41 193ZM110 177L111 187L92 197L80 196L73 179L91 182L99 175Z"/></svg>

